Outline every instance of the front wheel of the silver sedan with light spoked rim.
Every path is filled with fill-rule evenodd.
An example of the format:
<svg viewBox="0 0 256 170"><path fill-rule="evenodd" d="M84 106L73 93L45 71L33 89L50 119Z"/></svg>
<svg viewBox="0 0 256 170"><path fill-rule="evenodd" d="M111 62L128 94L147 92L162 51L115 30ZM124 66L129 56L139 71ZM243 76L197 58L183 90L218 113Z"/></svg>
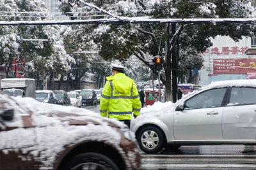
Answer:
<svg viewBox="0 0 256 170"><path fill-rule="evenodd" d="M140 149L145 153L157 153L163 149L163 134L156 127L145 127L138 134Z"/></svg>

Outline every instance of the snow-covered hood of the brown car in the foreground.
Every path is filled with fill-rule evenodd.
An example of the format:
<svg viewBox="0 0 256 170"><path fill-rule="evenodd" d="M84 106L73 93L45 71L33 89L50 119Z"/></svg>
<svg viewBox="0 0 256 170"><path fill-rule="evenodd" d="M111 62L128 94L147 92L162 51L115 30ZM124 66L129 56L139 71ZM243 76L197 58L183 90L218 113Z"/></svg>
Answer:
<svg viewBox="0 0 256 170"><path fill-rule="evenodd" d="M90 110L84 108L74 108L72 106L60 106L57 104L38 103L31 97L12 97L7 99L10 104L8 107L15 110L12 122L6 122L8 127L26 127L22 118L31 118L30 127L44 127L56 124L86 125L86 124L105 124L111 127L124 128L123 122L104 118ZM19 106L18 106L19 105ZM24 119L24 118L23 118Z"/></svg>

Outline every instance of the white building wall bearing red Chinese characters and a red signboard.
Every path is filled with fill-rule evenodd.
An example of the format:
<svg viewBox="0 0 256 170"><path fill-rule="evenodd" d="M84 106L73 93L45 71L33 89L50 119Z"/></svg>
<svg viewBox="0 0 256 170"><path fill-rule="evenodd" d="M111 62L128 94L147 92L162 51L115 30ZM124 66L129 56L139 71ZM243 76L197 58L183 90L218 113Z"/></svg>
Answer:
<svg viewBox="0 0 256 170"><path fill-rule="evenodd" d="M208 85L212 81L245 80L256 78L256 56L245 55L253 46L252 38L235 42L228 36L212 38L213 45L202 53L204 67L198 73L198 84Z"/></svg>

